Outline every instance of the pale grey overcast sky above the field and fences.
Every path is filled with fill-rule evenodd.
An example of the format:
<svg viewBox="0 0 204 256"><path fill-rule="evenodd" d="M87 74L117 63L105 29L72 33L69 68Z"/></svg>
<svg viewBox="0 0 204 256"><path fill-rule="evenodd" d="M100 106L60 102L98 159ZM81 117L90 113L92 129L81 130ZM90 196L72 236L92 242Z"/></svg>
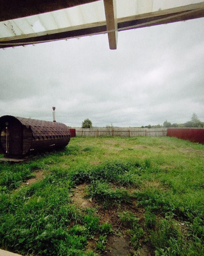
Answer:
<svg viewBox="0 0 204 256"><path fill-rule="evenodd" d="M81 127L204 121L204 18L0 50L0 116Z"/></svg>

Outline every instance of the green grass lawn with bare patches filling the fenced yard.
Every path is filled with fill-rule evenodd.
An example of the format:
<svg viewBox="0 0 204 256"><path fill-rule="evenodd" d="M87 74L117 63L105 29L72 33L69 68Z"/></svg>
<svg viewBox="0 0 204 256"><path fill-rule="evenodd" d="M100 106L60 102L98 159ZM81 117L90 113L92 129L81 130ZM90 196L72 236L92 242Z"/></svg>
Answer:
<svg viewBox="0 0 204 256"><path fill-rule="evenodd" d="M204 145L76 137L0 163L0 247L26 255L204 255Z"/></svg>

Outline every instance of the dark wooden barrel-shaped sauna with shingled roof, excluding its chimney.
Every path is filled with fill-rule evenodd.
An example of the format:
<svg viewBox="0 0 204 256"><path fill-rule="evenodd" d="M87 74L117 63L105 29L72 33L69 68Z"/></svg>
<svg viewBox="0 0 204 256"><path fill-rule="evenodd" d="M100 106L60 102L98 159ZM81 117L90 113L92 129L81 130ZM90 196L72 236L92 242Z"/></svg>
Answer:
<svg viewBox="0 0 204 256"><path fill-rule="evenodd" d="M8 158L63 148L70 141L63 123L4 115L0 117L0 151Z"/></svg>

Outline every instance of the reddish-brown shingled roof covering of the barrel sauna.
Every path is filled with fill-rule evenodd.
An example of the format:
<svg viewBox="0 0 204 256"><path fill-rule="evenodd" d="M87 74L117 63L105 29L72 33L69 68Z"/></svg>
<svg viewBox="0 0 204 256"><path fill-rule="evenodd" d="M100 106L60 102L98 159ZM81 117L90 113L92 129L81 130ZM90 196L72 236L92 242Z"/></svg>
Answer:
<svg viewBox="0 0 204 256"><path fill-rule="evenodd" d="M37 137L39 137L39 139L43 139L43 138L50 139L50 136L53 138L53 136L56 136L56 135L58 135L58 137L59 135L60 136L70 135L69 129L63 123L42 121L42 120L36 120L36 119L30 119L30 118L24 118L24 117L16 117L16 118L27 128L29 128L29 126L31 127L33 137L35 139L37 139Z"/></svg>

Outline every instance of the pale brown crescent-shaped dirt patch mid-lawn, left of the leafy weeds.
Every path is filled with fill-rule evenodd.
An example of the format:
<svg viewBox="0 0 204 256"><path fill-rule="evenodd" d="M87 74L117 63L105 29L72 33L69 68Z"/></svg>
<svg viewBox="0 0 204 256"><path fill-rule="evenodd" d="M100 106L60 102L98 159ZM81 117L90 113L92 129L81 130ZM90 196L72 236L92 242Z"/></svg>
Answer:
<svg viewBox="0 0 204 256"><path fill-rule="evenodd" d="M86 192L84 191L87 183L80 184L76 186L74 189L74 196L72 197L73 203L76 205L86 208L86 207L94 207L94 202L90 201L90 199L85 199Z"/></svg>

